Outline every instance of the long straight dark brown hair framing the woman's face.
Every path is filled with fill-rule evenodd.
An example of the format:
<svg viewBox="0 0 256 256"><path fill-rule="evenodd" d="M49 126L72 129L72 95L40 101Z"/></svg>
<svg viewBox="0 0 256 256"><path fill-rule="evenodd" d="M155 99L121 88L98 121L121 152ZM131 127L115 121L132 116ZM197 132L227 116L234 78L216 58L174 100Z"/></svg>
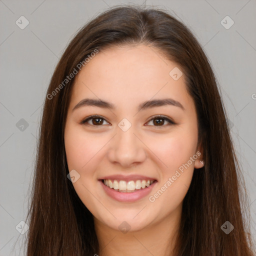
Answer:
<svg viewBox="0 0 256 256"><path fill-rule="evenodd" d="M173 255L252 256L248 218L242 208L246 198L242 196L245 187L241 167L211 65L182 22L160 9L132 5L106 10L83 26L66 47L51 77L27 214L26 255L98 253L92 214L67 178L64 125L74 79L64 85L63 81L95 49L139 43L159 49L182 68L196 107L198 142L203 148L205 165L194 171L183 200ZM61 83L61 89L56 90ZM229 234L221 229L225 221L234 226Z"/></svg>

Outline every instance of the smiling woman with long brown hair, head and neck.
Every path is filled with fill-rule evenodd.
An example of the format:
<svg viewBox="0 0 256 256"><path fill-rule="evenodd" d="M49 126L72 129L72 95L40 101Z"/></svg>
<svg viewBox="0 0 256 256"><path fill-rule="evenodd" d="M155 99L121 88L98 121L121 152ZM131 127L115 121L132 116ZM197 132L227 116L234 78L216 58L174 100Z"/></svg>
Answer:
<svg viewBox="0 0 256 256"><path fill-rule="evenodd" d="M156 9L81 28L41 120L27 255L253 255L210 64Z"/></svg>

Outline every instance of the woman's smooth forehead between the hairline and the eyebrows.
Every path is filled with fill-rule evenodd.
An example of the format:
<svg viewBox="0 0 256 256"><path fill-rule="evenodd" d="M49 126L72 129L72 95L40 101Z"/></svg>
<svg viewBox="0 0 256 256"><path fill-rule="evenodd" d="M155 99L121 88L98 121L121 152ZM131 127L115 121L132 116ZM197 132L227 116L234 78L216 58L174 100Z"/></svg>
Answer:
<svg viewBox="0 0 256 256"><path fill-rule="evenodd" d="M91 96L127 105L169 96L182 105L191 104L184 75L174 80L173 68L181 71L156 48L143 44L111 47L99 51L78 72L71 102Z"/></svg>

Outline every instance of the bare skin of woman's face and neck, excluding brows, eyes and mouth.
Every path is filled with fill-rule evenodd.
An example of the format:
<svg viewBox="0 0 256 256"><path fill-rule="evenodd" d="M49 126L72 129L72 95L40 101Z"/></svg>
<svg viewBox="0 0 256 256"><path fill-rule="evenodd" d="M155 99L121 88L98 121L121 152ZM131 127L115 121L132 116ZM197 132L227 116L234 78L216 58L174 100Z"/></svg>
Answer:
<svg viewBox="0 0 256 256"><path fill-rule="evenodd" d="M153 195L175 174L179 166L201 151L197 147L197 117L192 97L185 87L184 75L174 80L169 72L179 67L156 48L143 44L111 47L97 53L75 76L65 123L64 141L69 171L80 177L73 182L78 196L94 216L103 255L171 255L180 223L183 198L194 168L203 166L202 154L165 191L150 202ZM83 98L102 99L116 109L82 106L72 111ZM137 111L146 100L172 98L184 110L173 105L155 106ZM94 126L89 115L102 116ZM155 115L167 121L155 124ZM131 127L118 127L122 118ZM146 125L147 124L147 125ZM119 202L109 197L98 179L113 174L141 174L158 182L152 192L135 201ZM130 229L122 233L118 226L126 221ZM96 253L96 252L95 252Z"/></svg>

